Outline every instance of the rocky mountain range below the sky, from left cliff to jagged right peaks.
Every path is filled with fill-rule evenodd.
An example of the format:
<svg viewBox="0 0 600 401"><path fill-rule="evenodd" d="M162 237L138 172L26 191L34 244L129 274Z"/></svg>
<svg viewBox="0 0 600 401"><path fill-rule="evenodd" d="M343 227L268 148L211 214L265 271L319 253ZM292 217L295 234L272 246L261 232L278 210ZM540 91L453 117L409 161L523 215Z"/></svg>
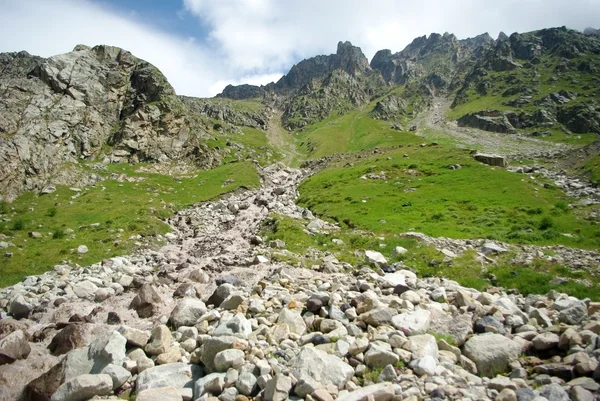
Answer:
<svg viewBox="0 0 600 401"><path fill-rule="evenodd" d="M402 131L440 99L449 100L445 115L461 127L598 134L595 32L550 28L495 40L434 33L396 53L380 50L370 62L339 42L335 54L303 60L278 82L227 86L214 99L177 96L158 69L114 47L77 46L48 59L2 54L1 193L10 200L52 182L74 184L61 172L82 160L205 168L273 160L280 150L250 137L269 128L309 132L357 111ZM314 142L303 141L313 150Z"/></svg>

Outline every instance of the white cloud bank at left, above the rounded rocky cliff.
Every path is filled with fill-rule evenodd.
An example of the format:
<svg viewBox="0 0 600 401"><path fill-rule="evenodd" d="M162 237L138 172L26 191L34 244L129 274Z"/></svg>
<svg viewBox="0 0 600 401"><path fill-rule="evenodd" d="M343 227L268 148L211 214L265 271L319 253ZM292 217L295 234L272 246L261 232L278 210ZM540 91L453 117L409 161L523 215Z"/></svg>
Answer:
<svg viewBox="0 0 600 401"><path fill-rule="evenodd" d="M0 13L0 51L50 57L79 43L118 46L157 66L177 93L192 96L214 96L225 86L215 82L243 75L194 38L158 31L86 0L0 0ZM258 82L265 83L262 75Z"/></svg>

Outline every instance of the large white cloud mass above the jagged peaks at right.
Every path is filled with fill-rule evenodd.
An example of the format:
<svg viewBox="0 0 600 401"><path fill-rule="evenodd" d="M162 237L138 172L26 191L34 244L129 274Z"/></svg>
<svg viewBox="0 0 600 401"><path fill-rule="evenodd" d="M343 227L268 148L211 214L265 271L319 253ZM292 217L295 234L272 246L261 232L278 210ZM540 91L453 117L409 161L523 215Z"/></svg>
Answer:
<svg viewBox="0 0 600 401"><path fill-rule="evenodd" d="M210 41L241 69L289 68L295 60L335 51L350 40L371 58L403 49L417 36L459 38L597 24L597 0L184 0L211 27Z"/></svg>

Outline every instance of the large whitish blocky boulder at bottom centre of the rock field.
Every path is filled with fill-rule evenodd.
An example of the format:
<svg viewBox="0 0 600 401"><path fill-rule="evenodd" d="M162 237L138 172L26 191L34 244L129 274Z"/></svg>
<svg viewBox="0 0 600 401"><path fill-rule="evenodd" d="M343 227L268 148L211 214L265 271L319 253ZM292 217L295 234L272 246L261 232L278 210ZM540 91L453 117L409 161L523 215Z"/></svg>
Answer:
<svg viewBox="0 0 600 401"><path fill-rule="evenodd" d="M310 347L303 347L300 350L290 361L290 368L291 374L298 381L312 381L322 385L333 384L338 389L343 388L354 375L354 369L338 357Z"/></svg>

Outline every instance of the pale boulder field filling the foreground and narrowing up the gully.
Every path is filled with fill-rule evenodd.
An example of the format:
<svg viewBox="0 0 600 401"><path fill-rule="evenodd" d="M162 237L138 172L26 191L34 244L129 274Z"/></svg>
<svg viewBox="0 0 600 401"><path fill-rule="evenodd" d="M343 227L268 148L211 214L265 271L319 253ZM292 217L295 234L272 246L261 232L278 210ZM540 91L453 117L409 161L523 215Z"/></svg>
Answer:
<svg viewBox="0 0 600 401"><path fill-rule="evenodd" d="M0 290L0 399L598 396L599 303L418 279L375 251L375 270L352 274L331 256L318 270L272 263L285 244L257 236L269 213L334 228L295 204L310 173L269 166L261 189L179 212L161 249Z"/></svg>

